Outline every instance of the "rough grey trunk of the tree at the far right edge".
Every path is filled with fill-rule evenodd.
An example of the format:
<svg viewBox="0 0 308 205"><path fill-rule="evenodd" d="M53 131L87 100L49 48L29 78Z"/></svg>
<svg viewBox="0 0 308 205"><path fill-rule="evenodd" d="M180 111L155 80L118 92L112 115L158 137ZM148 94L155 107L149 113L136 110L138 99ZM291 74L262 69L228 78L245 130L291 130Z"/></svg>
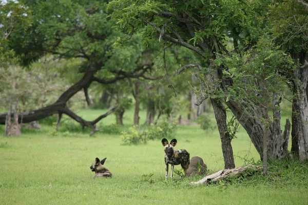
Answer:
<svg viewBox="0 0 308 205"><path fill-rule="evenodd" d="M293 73L293 107L292 107L292 148L291 151L303 161L308 158L308 54L293 56L296 63L302 66Z"/></svg>

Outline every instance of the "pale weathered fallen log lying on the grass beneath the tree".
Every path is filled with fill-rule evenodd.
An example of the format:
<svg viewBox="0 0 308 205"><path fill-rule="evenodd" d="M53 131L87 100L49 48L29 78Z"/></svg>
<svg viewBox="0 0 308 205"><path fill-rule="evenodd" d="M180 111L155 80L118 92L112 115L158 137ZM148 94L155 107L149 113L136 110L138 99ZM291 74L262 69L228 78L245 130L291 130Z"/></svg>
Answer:
<svg viewBox="0 0 308 205"><path fill-rule="evenodd" d="M227 177L239 177L244 175L247 172L256 172L258 170L261 170L262 167L255 166L255 165L247 165L235 169L226 169L226 170L220 170L214 174L208 175L204 177L203 179L200 179L199 181L191 181L190 185L206 185L211 182L216 182L222 179L225 179Z"/></svg>

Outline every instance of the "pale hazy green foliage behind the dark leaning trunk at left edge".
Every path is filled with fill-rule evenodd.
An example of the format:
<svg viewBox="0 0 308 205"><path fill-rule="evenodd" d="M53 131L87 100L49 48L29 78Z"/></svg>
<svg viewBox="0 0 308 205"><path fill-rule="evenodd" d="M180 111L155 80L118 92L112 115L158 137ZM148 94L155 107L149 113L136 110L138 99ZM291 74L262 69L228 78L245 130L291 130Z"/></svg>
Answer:
<svg viewBox="0 0 308 205"><path fill-rule="evenodd" d="M0 83L3 85L0 88L3 96L0 108L8 109L17 97L20 99L19 109L22 112L54 103L68 89L68 80L58 80L61 73L53 67L55 64L52 60L46 64L37 63L31 70L19 66L0 67ZM83 98L82 93L76 94L68 106L81 108L84 105L81 102Z"/></svg>

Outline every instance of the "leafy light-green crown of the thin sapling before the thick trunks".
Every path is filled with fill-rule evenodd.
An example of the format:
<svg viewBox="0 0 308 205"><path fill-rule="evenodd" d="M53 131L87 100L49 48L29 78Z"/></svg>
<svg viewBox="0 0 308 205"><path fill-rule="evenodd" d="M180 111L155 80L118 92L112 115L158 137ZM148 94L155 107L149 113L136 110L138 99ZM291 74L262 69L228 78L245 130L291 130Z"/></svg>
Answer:
<svg viewBox="0 0 308 205"><path fill-rule="evenodd" d="M293 60L290 55L277 49L269 35L264 34L245 57L236 53L229 57L218 57L216 64L228 68L223 75L233 79L233 85L228 87L226 101L232 98L240 105L262 108L264 90L267 99L271 99L273 94L285 96L287 85L290 85L287 76L292 72Z"/></svg>

